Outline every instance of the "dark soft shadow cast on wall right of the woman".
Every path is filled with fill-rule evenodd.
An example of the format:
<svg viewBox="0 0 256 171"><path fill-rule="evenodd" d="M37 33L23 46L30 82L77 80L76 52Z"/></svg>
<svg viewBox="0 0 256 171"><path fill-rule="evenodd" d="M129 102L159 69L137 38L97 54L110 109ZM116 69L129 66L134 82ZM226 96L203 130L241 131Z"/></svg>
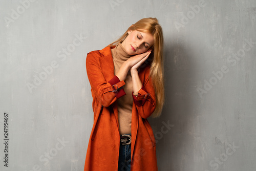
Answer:
<svg viewBox="0 0 256 171"><path fill-rule="evenodd" d="M192 153L185 144L193 142L187 132L195 112L195 89L190 86L197 67L194 58L193 50L165 38L165 104L159 118L148 118L156 138L159 170L181 170L182 159Z"/></svg>

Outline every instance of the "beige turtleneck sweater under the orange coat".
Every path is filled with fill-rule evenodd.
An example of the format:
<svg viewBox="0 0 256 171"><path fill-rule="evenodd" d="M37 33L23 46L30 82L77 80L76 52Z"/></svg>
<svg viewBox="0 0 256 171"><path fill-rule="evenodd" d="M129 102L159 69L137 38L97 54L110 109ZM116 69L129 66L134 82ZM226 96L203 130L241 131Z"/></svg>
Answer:
<svg viewBox="0 0 256 171"><path fill-rule="evenodd" d="M131 55L127 54L125 49L122 47L121 43L119 43L115 48L111 49L111 53L114 61L114 70L115 75L119 71L123 62L131 57ZM129 72L124 80L125 85L123 89L126 95L117 99L117 109L118 109L118 121L119 121L119 132L120 134L131 134L131 126L132 126L132 108L133 108L133 82L132 76Z"/></svg>

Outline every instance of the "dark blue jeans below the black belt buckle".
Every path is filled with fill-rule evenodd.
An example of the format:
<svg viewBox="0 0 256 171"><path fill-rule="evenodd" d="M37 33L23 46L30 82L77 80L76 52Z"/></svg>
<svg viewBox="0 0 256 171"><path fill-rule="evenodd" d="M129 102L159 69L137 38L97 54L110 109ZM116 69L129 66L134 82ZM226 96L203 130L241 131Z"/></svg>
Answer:
<svg viewBox="0 0 256 171"><path fill-rule="evenodd" d="M128 135L131 135L131 134L128 134ZM118 171L130 171L130 170L131 170L131 144L122 145L120 143Z"/></svg>

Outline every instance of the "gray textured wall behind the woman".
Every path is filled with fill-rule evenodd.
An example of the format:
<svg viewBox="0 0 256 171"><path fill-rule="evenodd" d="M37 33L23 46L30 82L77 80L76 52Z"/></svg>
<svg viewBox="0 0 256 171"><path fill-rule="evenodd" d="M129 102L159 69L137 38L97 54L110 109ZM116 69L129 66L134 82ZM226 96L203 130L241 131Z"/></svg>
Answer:
<svg viewBox="0 0 256 171"><path fill-rule="evenodd" d="M0 9L0 170L83 170L86 55L143 17L157 17L165 38L165 106L149 119L159 170L256 170L256 1L2 0Z"/></svg>

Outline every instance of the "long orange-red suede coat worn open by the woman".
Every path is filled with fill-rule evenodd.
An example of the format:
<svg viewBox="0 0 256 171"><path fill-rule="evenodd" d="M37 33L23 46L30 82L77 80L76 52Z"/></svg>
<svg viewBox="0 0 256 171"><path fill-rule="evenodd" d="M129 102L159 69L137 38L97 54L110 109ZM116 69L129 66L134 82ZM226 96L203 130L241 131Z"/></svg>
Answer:
<svg viewBox="0 0 256 171"><path fill-rule="evenodd" d="M125 83L114 75L110 47L88 53L86 69L92 88L94 124L84 171L117 171L120 133L116 100L120 97L120 93L124 92L121 87ZM143 86L137 98L133 95L131 171L158 170L156 141L150 123L146 119L151 116L156 106L155 91L149 74L150 66L142 66L139 77ZM112 86L113 84L116 86ZM117 87L119 89L112 92Z"/></svg>

